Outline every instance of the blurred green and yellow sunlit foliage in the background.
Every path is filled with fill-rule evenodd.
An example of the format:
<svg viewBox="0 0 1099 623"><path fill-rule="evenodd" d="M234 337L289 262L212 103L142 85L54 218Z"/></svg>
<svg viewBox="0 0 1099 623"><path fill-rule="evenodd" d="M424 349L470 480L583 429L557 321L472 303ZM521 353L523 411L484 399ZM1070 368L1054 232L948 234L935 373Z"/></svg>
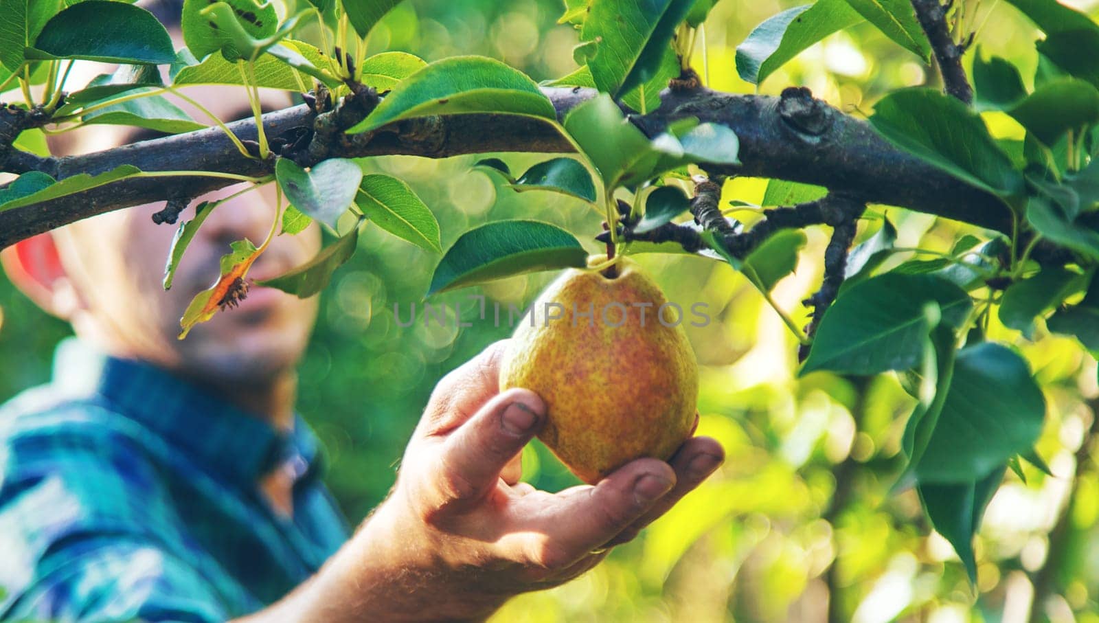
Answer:
<svg viewBox="0 0 1099 623"><path fill-rule="evenodd" d="M962 3L963 0L957 0ZM983 54L1033 74L1037 31L1007 3L966 0ZM1095 2L1075 2L1091 10ZM693 65L714 88L756 89L734 69L735 46L752 27L793 3L721 0L698 42ZM496 57L536 80L576 68L577 33L556 23L560 0L407 0L376 29L371 51L400 49L434 60L456 54ZM856 115L890 89L934 84L933 71L868 24L814 45L759 89L803 85ZM993 132L1018 126L987 116ZM491 131L491 129L486 129ZM542 159L498 154L512 170ZM487 157L487 156L486 156ZM443 245L467 229L507 218L562 225L589 244L601 218L552 193L517 193L471 169L474 157L375 158L370 169L407 180L437 216ZM759 203L766 180L736 179L726 200ZM898 225L899 246L950 249L962 229L896 208L876 207L862 235ZM736 214L751 221L751 212ZM979 232L977 232L979 233ZM800 324L800 301L820 282L828 231L809 232L795 275L775 292ZM165 249L167 252L167 249ZM970 587L948 544L932 533L914 492L889 496L902 458L899 440L912 408L891 376L796 378L796 342L761 296L731 267L707 258L639 256L668 298L704 302L712 316L688 327L702 366L699 432L725 446L723 468L608 560L564 587L520 597L495 621L532 622L1099 622L1099 475L1081 444L1099 405L1096 363L1075 342L1039 332L1025 342L1002 327L991 338L1017 344L1046 391L1050 412L1039 453L1055 477L1009 472L977 542ZM899 262L904 255L898 256ZM300 368L299 410L322 437L328 482L353 522L384 499L404 444L434 383L510 330L477 320L478 305L525 305L553 278L536 274L437 297L444 326L399 326L422 301L437 257L368 227L352 262L322 296L314 338ZM473 326L458 327L455 305ZM0 399L48 378L52 349L68 327L40 312L0 277ZM575 479L542 447L524 454L526 479L556 490ZM829 599L829 596L832 599ZM1036 602L1032 609L1032 602ZM831 619L830 619L831 616Z"/></svg>

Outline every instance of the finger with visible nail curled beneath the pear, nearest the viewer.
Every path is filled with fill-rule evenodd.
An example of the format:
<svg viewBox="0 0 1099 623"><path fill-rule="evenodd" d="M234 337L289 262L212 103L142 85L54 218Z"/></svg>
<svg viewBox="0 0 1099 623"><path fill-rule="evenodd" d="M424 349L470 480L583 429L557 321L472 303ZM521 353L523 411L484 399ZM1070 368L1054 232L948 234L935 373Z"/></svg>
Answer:
<svg viewBox="0 0 1099 623"><path fill-rule="evenodd" d="M611 472L595 487L558 493L554 498L556 503L548 509L545 500L524 498L542 507L518 509L536 518L525 521L529 561L548 569L573 565L644 515L671 490L675 479L668 464L642 458ZM522 518L517 522L524 523Z"/></svg>

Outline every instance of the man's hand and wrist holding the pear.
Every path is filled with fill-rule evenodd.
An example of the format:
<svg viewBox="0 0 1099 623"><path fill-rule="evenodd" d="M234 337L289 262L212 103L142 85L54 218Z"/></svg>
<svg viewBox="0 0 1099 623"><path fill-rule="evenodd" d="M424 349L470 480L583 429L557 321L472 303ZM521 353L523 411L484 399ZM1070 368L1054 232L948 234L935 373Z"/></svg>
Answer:
<svg viewBox="0 0 1099 623"><path fill-rule="evenodd" d="M392 493L313 580L315 620L482 619L590 569L721 464L715 441L692 437L670 465L634 460L596 486L548 493L519 482L545 404L499 392L503 344L436 386Z"/></svg>

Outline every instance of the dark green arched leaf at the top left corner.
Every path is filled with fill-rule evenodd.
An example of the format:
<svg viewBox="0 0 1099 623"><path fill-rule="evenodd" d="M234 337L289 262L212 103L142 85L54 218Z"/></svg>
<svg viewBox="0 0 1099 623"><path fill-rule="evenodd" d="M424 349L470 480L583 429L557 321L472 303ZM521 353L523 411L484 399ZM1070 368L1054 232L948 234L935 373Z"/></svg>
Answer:
<svg viewBox="0 0 1099 623"><path fill-rule="evenodd" d="M153 13L110 0L85 0L57 13L25 55L43 60L80 58L149 65L176 59L171 37Z"/></svg>

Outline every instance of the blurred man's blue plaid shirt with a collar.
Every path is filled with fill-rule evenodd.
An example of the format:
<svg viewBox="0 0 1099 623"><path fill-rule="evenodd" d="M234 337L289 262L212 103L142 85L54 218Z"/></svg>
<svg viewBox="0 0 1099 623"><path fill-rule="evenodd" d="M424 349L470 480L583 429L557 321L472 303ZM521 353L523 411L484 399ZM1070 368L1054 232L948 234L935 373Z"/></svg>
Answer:
<svg viewBox="0 0 1099 623"><path fill-rule="evenodd" d="M293 519L259 490L293 466ZM299 418L284 435L147 364L63 342L0 407L0 620L214 622L307 579L348 536Z"/></svg>

